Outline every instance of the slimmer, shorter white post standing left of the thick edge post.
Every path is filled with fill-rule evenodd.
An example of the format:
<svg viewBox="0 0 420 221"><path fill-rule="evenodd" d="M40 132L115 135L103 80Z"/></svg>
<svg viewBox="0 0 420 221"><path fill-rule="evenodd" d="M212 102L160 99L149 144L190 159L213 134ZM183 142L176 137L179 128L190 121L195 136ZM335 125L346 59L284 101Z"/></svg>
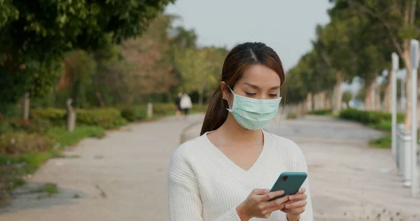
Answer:
<svg viewBox="0 0 420 221"><path fill-rule="evenodd" d="M397 53L393 52L392 55L392 79L391 79L391 91L392 91L392 155L395 156L396 143L397 143L397 71L399 57Z"/></svg>

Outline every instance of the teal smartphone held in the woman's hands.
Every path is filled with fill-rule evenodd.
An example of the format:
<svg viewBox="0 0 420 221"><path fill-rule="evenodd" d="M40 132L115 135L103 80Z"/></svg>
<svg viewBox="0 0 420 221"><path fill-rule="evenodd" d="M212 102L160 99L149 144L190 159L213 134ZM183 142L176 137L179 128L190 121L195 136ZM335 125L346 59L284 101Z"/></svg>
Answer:
<svg viewBox="0 0 420 221"><path fill-rule="evenodd" d="M279 197L274 197L269 199L269 201L279 199L286 195L293 195L299 191L300 187L304 180L307 179L308 174L305 172L283 172L280 174L279 178L277 178L276 183L274 183L272 189L269 192L275 192L278 190L283 190L284 194Z"/></svg>

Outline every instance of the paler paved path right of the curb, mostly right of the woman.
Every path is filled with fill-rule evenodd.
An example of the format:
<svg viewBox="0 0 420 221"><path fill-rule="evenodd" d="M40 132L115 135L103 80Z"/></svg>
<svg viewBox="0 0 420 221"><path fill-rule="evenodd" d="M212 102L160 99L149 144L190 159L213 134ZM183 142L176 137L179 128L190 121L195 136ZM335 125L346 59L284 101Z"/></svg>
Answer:
<svg viewBox="0 0 420 221"><path fill-rule="evenodd" d="M186 138L198 136L200 127L188 130ZM279 118L266 129L304 151L315 220L420 220L420 198L402 187L391 150L367 146L381 132L319 116Z"/></svg>

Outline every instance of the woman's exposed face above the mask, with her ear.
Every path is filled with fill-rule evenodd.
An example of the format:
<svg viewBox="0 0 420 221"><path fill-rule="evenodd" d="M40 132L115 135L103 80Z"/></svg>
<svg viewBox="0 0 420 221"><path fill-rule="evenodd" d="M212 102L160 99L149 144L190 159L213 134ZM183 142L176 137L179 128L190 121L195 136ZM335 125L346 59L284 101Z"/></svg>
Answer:
<svg viewBox="0 0 420 221"><path fill-rule="evenodd" d="M254 64L242 73L233 92L253 99L276 99L280 96L280 85L280 77L275 71L262 64ZM228 98L229 104L233 104L233 94L228 85L222 83L221 86L223 97Z"/></svg>

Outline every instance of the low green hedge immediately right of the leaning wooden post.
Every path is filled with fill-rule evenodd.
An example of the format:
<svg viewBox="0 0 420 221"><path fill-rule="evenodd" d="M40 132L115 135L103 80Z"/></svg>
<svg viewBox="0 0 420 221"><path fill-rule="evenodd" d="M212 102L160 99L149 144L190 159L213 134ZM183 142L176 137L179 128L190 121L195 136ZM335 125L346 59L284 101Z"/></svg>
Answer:
<svg viewBox="0 0 420 221"><path fill-rule="evenodd" d="M76 121L80 124L114 129L127 124L127 120L121 116L120 110L115 108L78 109Z"/></svg>

